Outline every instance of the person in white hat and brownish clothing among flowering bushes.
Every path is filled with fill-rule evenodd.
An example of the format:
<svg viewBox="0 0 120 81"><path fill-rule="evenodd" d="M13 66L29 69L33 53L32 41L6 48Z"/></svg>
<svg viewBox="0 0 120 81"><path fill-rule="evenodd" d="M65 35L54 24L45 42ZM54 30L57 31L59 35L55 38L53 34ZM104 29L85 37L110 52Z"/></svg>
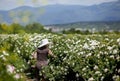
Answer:
<svg viewBox="0 0 120 81"><path fill-rule="evenodd" d="M52 51L49 49L49 44L50 42L48 41L48 39L43 39L40 43L40 46L38 46L36 50L37 52L37 57L36 57L37 62L35 65L36 81L40 80L39 71L41 71L41 67L48 65L48 60L47 60L48 55L56 57L55 55L53 55ZM43 75L43 78L45 78L44 75Z"/></svg>

